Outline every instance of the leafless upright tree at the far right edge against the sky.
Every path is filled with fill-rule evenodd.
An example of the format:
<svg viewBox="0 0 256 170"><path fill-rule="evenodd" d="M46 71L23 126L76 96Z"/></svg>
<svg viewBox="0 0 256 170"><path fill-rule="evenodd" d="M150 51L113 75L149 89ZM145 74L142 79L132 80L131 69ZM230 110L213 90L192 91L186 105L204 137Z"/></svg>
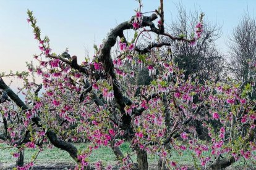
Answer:
<svg viewBox="0 0 256 170"><path fill-rule="evenodd" d="M244 14L234 28L228 42L229 70L241 81L251 77L250 65L256 59L256 23L255 18Z"/></svg>

